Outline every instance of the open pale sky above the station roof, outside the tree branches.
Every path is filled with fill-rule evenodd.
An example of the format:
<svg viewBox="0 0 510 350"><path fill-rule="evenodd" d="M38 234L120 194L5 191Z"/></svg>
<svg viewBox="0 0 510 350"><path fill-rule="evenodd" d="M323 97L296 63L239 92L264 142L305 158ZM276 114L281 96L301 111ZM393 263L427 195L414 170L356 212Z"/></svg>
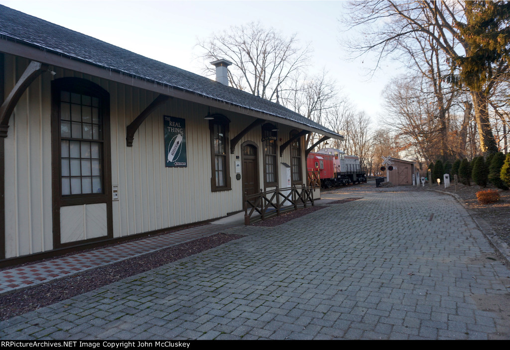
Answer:
<svg viewBox="0 0 510 350"><path fill-rule="evenodd" d="M381 91L398 67L384 62L350 60L341 41L343 1L5 1L0 4L140 55L203 74L196 43L232 25L260 21L285 36L297 34L313 48L309 73L323 69L374 126L384 115Z"/></svg>

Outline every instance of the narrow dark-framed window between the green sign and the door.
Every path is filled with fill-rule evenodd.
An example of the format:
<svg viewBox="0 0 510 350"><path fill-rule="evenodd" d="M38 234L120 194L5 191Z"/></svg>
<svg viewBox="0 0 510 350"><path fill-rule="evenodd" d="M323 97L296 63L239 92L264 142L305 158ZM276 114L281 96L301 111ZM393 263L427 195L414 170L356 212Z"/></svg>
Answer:
<svg viewBox="0 0 510 350"><path fill-rule="evenodd" d="M228 159L228 120L215 114L209 121L211 131L211 190L231 190L230 167Z"/></svg>

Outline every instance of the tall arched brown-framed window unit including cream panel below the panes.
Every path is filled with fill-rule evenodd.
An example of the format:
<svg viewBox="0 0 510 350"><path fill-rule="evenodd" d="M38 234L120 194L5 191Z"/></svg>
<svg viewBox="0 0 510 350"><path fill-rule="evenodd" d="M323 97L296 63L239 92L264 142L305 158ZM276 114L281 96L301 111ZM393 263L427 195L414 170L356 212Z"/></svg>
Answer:
<svg viewBox="0 0 510 350"><path fill-rule="evenodd" d="M113 237L109 106L89 80L52 82L54 249Z"/></svg>

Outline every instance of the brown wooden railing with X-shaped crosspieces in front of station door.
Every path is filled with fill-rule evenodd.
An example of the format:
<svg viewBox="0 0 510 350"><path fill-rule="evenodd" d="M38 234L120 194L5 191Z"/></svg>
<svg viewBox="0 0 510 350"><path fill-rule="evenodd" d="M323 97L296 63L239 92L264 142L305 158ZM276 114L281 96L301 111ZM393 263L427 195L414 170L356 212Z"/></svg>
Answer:
<svg viewBox="0 0 510 350"><path fill-rule="evenodd" d="M268 219L288 210L297 210L298 206L307 207L307 203L314 205L314 187L300 187L293 185L264 192L262 189L254 195L244 194L244 224L256 219Z"/></svg>

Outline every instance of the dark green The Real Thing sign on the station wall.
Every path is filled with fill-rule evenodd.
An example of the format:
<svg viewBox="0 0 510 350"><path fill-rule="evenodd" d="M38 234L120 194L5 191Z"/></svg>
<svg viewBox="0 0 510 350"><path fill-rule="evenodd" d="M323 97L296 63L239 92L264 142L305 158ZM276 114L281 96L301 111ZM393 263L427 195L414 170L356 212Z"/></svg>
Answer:
<svg viewBox="0 0 510 350"><path fill-rule="evenodd" d="M186 167L186 121L163 116L165 132L165 165Z"/></svg>

